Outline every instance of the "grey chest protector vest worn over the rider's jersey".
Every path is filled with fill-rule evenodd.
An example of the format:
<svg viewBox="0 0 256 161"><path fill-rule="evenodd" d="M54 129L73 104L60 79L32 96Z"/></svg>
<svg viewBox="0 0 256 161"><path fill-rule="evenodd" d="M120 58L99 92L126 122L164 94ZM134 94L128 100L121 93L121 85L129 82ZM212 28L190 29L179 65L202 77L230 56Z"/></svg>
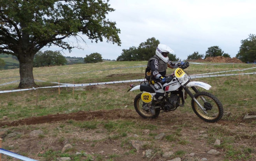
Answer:
<svg viewBox="0 0 256 161"><path fill-rule="evenodd" d="M146 68L145 72L145 78L147 81L151 81L153 79L153 74L151 73L151 68L150 68L150 61L151 60L157 60L158 61L158 72L161 74L162 72L165 73L167 69L167 63L165 63L162 59L160 59L158 56L154 55L152 58L148 60L148 66ZM165 74L161 74L165 75Z"/></svg>

